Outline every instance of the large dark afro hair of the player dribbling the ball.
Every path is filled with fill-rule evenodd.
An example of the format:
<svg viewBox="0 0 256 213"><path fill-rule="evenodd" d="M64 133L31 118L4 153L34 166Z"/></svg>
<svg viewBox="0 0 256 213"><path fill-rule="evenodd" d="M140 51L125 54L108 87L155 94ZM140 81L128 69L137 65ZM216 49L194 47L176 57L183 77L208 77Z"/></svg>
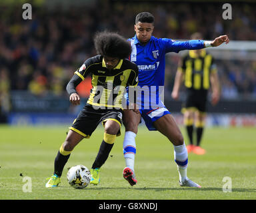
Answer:
<svg viewBox="0 0 256 213"><path fill-rule="evenodd" d="M121 35L107 31L96 33L94 39L97 54L125 59L131 54L130 43Z"/></svg>

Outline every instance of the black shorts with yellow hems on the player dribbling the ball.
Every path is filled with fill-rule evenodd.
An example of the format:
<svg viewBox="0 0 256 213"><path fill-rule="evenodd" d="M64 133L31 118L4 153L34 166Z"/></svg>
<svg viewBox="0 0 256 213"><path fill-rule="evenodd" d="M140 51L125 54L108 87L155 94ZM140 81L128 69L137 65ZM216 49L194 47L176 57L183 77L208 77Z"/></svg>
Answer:
<svg viewBox="0 0 256 213"><path fill-rule="evenodd" d="M94 109L91 105L85 105L81 112L75 118L73 125L69 129L89 138L100 122L103 126L107 120L115 120L119 126L117 136L121 135L121 123L123 110L121 109Z"/></svg>

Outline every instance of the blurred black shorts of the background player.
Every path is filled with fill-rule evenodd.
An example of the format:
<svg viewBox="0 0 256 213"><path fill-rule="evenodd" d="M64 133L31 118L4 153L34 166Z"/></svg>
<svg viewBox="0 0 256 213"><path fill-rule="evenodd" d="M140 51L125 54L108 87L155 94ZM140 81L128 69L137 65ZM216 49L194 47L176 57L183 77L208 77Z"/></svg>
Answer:
<svg viewBox="0 0 256 213"><path fill-rule="evenodd" d="M207 91L193 91L187 90L187 97L183 103L182 111L187 109L199 110L199 112L206 112L207 110Z"/></svg>

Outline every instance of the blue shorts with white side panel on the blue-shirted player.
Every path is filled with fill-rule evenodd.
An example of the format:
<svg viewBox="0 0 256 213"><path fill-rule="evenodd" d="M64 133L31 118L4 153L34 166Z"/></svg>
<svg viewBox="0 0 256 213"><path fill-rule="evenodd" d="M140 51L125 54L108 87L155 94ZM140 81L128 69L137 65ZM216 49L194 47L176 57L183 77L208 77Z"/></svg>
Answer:
<svg viewBox="0 0 256 213"><path fill-rule="evenodd" d="M145 124L149 130L157 130L153 126L153 122L155 120L161 118L165 114L171 114L169 110L167 110L166 107L161 108L155 108L155 109L140 109L139 112L141 112L141 116L143 117L143 120L145 121Z"/></svg>

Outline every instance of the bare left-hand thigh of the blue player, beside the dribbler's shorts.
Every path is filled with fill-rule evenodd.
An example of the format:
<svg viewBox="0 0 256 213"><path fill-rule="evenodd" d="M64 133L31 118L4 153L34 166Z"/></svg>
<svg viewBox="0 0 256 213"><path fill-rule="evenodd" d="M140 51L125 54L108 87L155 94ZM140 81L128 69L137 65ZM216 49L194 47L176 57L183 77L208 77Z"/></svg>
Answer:
<svg viewBox="0 0 256 213"><path fill-rule="evenodd" d="M123 124L125 131L138 132L139 122L141 122L141 113L137 113L131 109L123 110Z"/></svg>

